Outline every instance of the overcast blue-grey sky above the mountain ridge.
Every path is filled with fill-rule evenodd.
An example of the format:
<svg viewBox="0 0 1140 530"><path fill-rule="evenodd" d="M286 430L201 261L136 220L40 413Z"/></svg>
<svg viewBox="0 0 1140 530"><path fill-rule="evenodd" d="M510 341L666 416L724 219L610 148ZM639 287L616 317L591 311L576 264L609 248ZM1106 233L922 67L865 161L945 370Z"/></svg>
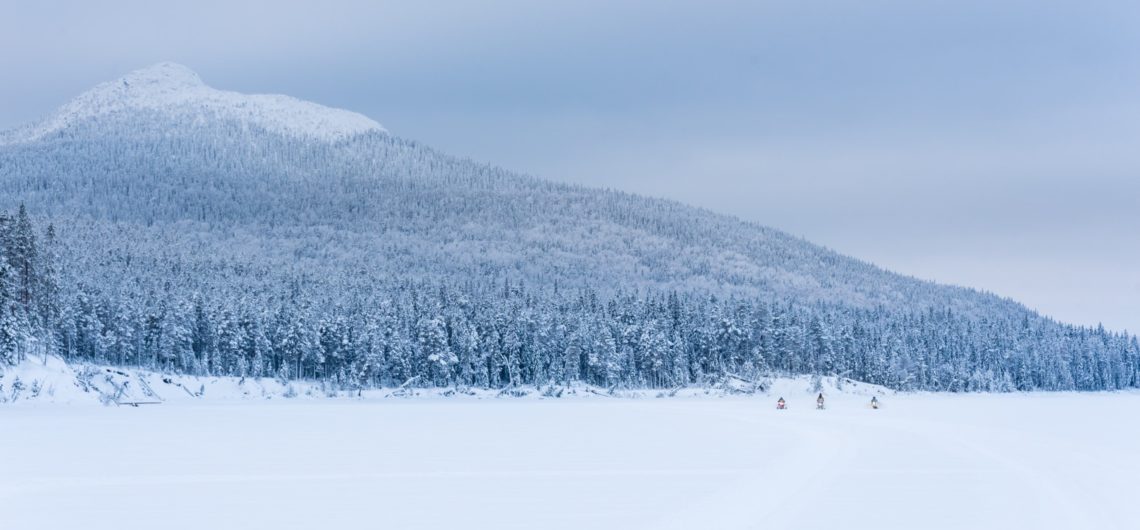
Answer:
<svg viewBox="0 0 1140 530"><path fill-rule="evenodd" d="M160 3L7 6L0 128L172 60L1140 332L1140 2Z"/></svg>

